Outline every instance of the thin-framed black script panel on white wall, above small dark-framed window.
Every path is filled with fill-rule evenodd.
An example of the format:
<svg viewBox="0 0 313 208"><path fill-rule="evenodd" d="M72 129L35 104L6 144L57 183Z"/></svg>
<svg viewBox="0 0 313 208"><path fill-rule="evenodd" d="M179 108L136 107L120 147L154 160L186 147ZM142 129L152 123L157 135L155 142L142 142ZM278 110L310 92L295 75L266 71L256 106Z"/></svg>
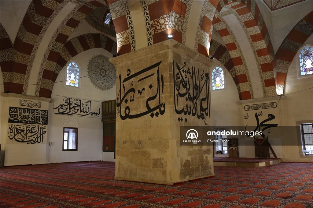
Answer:
<svg viewBox="0 0 313 208"><path fill-rule="evenodd" d="M53 114L101 118L101 103L54 95Z"/></svg>

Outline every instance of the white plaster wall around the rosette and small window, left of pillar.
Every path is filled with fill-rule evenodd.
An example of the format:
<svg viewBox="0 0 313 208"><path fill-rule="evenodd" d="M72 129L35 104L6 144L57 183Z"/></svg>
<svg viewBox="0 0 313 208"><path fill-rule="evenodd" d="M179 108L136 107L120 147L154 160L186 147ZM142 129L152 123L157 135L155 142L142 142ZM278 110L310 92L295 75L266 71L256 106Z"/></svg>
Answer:
<svg viewBox="0 0 313 208"><path fill-rule="evenodd" d="M73 87L65 87L65 67L61 70L52 91L51 98L54 95L68 96L79 99L87 99L94 101L105 101L115 99L116 85L109 91L102 91L97 89L90 81L87 72L87 66L92 56L103 54L108 58L112 54L102 48L90 49L84 51L77 56L73 57L80 65L80 89ZM95 161L102 160L102 135L103 124L101 119L97 118L84 118L79 116L72 116L77 120L78 151L62 151L63 142L63 123L69 116L52 114L53 103L49 105L49 142L52 146L47 146L47 162L77 162L77 161ZM114 153L114 152L113 152ZM113 156L114 158L114 156Z"/></svg>

